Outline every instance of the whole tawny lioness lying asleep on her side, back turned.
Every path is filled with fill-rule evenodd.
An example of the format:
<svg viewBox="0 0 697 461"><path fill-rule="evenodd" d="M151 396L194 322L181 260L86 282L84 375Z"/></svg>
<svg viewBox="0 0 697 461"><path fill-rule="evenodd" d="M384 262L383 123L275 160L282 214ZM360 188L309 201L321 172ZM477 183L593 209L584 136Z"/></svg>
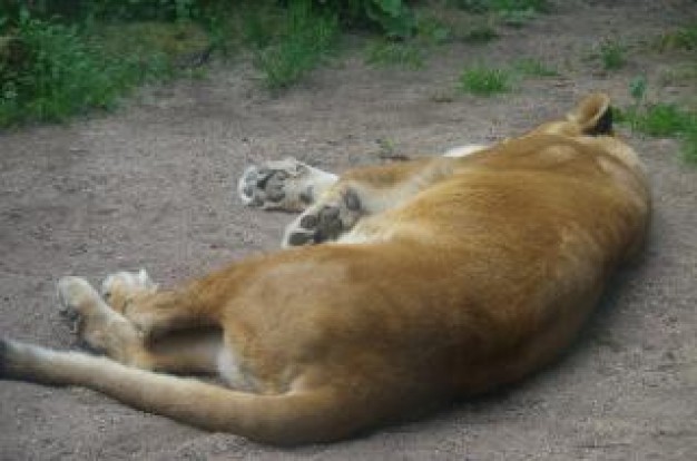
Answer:
<svg viewBox="0 0 697 461"><path fill-rule="evenodd" d="M640 251L650 208L601 94L492 147L341 177L271 163L238 188L303 212L288 248L171 290L145 272L108 276L101 294L61 278L60 303L106 356L4 340L1 376L269 443L346 438L558 356Z"/></svg>

